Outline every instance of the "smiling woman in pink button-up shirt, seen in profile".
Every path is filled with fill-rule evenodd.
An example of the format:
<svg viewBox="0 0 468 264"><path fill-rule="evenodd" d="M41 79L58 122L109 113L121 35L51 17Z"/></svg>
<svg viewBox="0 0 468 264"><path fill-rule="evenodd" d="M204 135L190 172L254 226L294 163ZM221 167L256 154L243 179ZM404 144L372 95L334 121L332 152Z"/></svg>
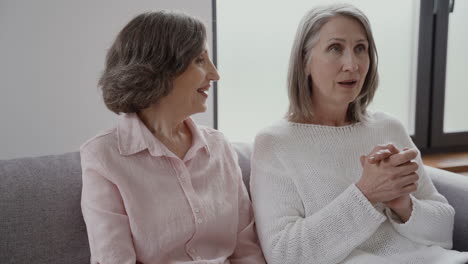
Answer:
<svg viewBox="0 0 468 264"><path fill-rule="evenodd" d="M265 263L237 156L197 126L219 79L197 19L131 20L99 81L118 124L81 146L91 263Z"/></svg>

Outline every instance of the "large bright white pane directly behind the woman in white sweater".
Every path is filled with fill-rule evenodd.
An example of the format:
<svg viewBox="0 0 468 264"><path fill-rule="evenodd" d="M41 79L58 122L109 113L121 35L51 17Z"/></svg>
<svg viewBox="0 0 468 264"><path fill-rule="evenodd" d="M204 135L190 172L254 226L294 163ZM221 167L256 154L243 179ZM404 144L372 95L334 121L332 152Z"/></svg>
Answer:
<svg viewBox="0 0 468 264"><path fill-rule="evenodd" d="M413 133L419 0L236 0L217 2L218 127L231 141L253 141L285 115L297 25L307 10L332 2L354 4L371 22L380 85L370 108L393 114Z"/></svg>

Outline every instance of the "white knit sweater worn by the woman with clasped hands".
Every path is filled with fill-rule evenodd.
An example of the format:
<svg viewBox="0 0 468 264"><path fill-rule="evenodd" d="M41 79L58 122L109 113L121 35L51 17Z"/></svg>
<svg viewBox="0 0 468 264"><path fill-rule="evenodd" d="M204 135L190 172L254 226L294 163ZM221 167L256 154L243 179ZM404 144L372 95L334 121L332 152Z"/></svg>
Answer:
<svg viewBox="0 0 468 264"><path fill-rule="evenodd" d="M401 223L355 186L360 155L378 144L413 147L402 124L384 113L329 127L281 120L255 139L251 193L258 235L269 264L465 263L452 247L454 209L421 160L413 212Z"/></svg>

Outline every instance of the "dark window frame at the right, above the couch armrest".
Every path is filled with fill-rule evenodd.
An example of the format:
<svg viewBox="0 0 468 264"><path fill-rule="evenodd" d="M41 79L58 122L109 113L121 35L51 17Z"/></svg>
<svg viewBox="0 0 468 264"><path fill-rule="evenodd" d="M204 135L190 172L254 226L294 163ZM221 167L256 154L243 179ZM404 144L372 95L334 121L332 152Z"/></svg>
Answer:
<svg viewBox="0 0 468 264"><path fill-rule="evenodd" d="M468 131L445 133L445 78L453 0L421 0L413 140L423 153L468 150Z"/></svg>

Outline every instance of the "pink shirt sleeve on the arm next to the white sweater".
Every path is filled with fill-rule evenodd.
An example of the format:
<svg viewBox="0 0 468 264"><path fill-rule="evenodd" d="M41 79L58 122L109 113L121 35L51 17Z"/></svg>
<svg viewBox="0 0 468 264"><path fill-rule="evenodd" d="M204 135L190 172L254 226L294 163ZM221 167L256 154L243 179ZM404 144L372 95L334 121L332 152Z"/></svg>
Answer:
<svg viewBox="0 0 468 264"><path fill-rule="evenodd" d="M237 161L237 154L230 146L230 152ZM237 162L236 162L237 164ZM260 248L257 233L255 231L255 221L253 217L252 204L249 194L242 180L242 172L238 165L235 166L235 177L238 184L238 207L239 225L237 233L237 243L234 253L229 257L232 264L260 264L265 263L262 250Z"/></svg>

